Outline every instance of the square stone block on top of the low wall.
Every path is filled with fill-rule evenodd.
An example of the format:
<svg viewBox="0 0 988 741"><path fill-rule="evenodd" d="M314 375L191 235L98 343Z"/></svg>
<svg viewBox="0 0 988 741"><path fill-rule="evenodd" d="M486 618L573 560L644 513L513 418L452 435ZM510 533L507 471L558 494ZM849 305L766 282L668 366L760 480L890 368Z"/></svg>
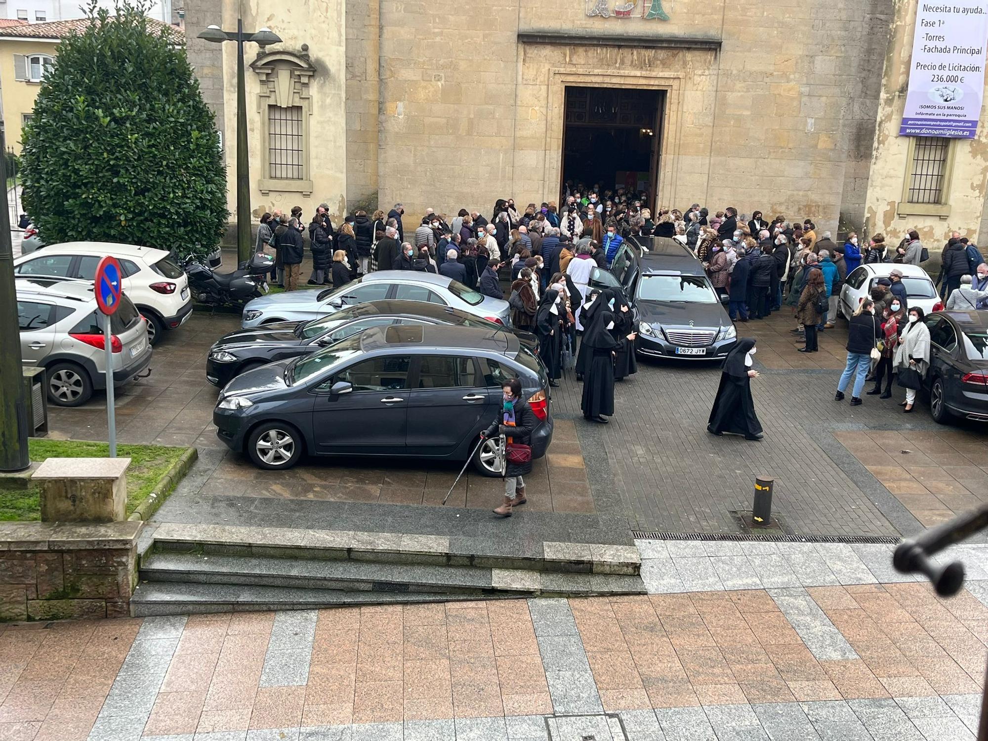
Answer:
<svg viewBox="0 0 988 741"><path fill-rule="evenodd" d="M130 458L48 458L31 477L41 483L41 522L125 520L129 464Z"/></svg>

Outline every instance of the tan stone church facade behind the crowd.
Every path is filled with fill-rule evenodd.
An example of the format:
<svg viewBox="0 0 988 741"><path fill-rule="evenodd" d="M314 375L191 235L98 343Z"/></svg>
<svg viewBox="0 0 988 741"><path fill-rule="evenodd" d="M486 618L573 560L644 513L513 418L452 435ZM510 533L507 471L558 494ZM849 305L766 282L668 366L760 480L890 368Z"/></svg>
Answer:
<svg viewBox="0 0 988 741"><path fill-rule="evenodd" d="M284 40L248 46L254 216L401 202L408 226L428 206L558 201L582 179L643 185L652 206L808 217L817 233L891 242L915 226L936 246L981 231L988 121L974 138L899 136L917 4L192 0L185 23L231 210L236 50L196 37L240 15ZM900 207L917 197L943 207Z"/></svg>

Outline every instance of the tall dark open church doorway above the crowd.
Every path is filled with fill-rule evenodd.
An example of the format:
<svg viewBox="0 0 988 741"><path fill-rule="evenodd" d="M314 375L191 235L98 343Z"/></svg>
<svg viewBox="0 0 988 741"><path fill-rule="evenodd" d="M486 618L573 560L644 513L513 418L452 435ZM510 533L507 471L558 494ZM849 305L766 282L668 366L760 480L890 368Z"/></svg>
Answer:
<svg viewBox="0 0 988 741"><path fill-rule="evenodd" d="M644 191L654 206L665 91L566 86L561 196L567 184ZM584 193L585 195L585 193Z"/></svg>

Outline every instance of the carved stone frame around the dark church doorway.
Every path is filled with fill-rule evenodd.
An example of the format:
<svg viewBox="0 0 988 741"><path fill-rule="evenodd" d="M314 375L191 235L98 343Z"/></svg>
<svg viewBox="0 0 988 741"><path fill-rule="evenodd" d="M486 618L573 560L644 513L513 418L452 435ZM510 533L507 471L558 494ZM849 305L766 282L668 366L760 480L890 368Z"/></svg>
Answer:
<svg viewBox="0 0 988 741"><path fill-rule="evenodd" d="M691 49L692 50L692 49ZM708 52L707 52L708 53ZM548 79L548 111L546 113L545 183L555 189L562 178L562 138L565 128L567 87L623 87L665 92L665 107L659 111L662 140L659 144L659 171L656 193L663 193L667 202L676 199L674 163L679 154L682 126L683 92L686 75L682 72L649 72L620 70L607 74L584 73L572 67L552 67ZM554 152L548 156L549 152ZM654 212L654 208L653 208Z"/></svg>

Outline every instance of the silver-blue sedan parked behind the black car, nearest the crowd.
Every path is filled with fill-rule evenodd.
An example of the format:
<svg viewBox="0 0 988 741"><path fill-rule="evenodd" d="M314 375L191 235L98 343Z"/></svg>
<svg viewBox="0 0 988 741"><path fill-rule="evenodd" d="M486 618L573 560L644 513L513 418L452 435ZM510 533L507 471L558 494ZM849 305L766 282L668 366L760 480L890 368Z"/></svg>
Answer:
<svg viewBox="0 0 988 741"><path fill-rule="evenodd" d="M244 306L242 326L246 329L272 322L316 319L344 306L386 298L453 306L504 326L511 324L511 308L503 299L485 296L434 273L383 270L340 288L292 290L255 298Z"/></svg>

